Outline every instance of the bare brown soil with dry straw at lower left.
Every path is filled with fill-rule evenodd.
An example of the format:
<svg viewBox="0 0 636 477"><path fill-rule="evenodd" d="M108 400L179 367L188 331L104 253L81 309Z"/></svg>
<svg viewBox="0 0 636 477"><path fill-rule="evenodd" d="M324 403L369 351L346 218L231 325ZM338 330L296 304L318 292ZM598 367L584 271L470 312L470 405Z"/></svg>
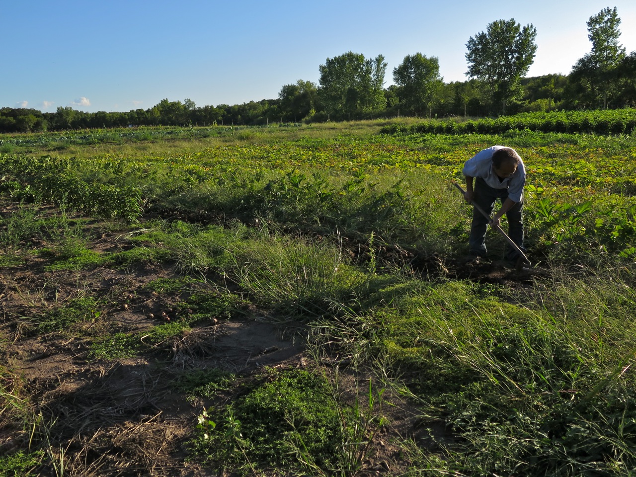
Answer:
<svg viewBox="0 0 636 477"><path fill-rule="evenodd" d="M6 218L20 207L2 200L0 213ZM53 207L38 208L39 216L57 213ZM107 252L133 246L124 226L102 229L99 221L90 221L87 227L94 232L86 245L89 249ZM50 424L51 448L64 460L68 475L212 476L188 460L186 445L198 414L211 403L186 399L173 385L176 377L189 370L221 368L250 380L265 366L308 366L298 332L302 327L277 326L258 310L232 319L211 316L189 335L155 343L135 358L95 359L89 352L95 336L122 332L143 336L158 323L178 320L175 305L183 297L157 293L147 285L181 275L165 263L47 271L50 260L39 251L49 245L42 239L27 239L14 251L19 263L0 268L0 370L8 371L3 386L21 387L20 395ZM100 300L99 316L73 333L37 331L34 317L80 296ZM353 399L354 373L343 370L342 374L349 376L345 383L350 389L345 391ZM392 441L420 436L421 423L413 408L397 396L391 400L393 406L387 406L391 424L375 436L374 452L361 474L396 471L403 458ZM17 422L10 412L0 414L0 454L29 449L30 430ZM53 475L52 463L44 462L29 474Z"/></svg>

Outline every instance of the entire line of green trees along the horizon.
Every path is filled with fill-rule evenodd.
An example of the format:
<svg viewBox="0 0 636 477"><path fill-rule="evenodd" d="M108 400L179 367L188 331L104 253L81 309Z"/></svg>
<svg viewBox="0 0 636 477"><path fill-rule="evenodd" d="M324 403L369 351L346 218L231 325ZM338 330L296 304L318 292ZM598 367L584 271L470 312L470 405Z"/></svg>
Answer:
<svg viewBox="0 0 636 477"><path fill-rule="evenodd" d="M619 44L621 19L604 8L588 22L591 51L567 74L533 78L537 31L532 25L496 20L466 43L469 77L445 83L439 59L407 55L384 88L387 62L347 52L319 66L319 84L299 79L275 99L198 107L190 99L163 99L149 109L86 113L58 107L0 109L0 131L31 132L130 125L265 125L269 123L360 120L394 116L498 116L532 111L616 109L636 105L636 52Z"/></svg>

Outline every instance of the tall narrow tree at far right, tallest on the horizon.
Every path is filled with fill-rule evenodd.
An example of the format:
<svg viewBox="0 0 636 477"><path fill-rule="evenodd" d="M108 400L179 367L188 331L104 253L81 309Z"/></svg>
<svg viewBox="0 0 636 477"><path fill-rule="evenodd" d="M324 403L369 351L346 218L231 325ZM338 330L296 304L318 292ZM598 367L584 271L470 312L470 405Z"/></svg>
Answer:
<svg viewBox="0 0 636 477"><path fill-rule="evenodd" d="M619 96L619 67L625 59L625 48L618 43L621 19L614 8L604 8L588 19L590 53L579 59L570 74L572 91L579 95L580 106L607 108Z"/></svg>

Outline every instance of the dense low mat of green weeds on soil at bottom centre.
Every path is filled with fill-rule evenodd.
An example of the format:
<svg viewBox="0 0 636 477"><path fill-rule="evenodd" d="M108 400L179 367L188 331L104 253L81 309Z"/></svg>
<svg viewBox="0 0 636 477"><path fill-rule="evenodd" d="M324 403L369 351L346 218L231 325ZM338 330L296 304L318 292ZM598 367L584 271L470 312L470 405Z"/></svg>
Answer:
<svg viewBox="0 0 636 477"><path fill-rule="evenodd" d="M195 452L216 465L293 466L296 447L291 434L295 433L318 466L335 466L342 434L324 377L307 371L278 373L239 401L207 414L214 426L202 429L207 438L202 433L195 441Z"/></svg>

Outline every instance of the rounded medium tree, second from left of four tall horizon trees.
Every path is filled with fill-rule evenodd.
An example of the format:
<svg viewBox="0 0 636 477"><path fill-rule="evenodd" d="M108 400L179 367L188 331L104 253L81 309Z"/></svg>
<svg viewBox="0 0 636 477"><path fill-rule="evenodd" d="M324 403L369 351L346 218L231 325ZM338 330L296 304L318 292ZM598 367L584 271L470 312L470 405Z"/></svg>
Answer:
<svg viewBox="0 0 636 477"><path fill-rule="evenodd" d="M427 58L422 53L407 55L404 61L393 69L393 80L399 86L398 95L406 111L423 116L441 87L439 60Z"/></svg>

